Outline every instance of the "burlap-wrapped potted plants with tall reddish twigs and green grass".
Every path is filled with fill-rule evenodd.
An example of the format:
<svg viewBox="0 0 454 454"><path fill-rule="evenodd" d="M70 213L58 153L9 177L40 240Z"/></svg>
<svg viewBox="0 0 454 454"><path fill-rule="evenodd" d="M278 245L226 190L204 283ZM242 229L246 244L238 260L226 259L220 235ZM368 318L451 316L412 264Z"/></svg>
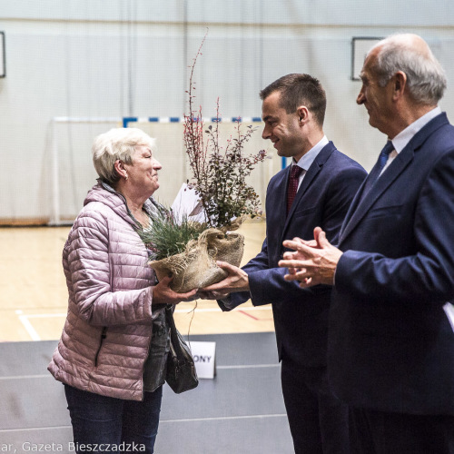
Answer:
<svg viewBox="0 0 454 454"><path fill-rule="evenodd" d="M206 37L206 35L205 35ZM232 232L248 216L260 214L260 199L246 183L255 165L265 158L265 151L245 155L244 145L256 128L247 126L242 133L241 122L235 125L235 136L222 145L219 138L219 98L216 103L217 121L205 127L202 107L196 111L193 73L202 44L193 59L189 80L189 114L184 115L183 141L192 169L189 187L198 196L197 209L204 213L202 222L190 216L177 218L168 212L154 221L150 229L141 232L143 242L155 255L150 266L158 279L173 275L171 288L185 292L221 281L226 273L216 261L239 266L242 260L242 234Z"/></svg>

